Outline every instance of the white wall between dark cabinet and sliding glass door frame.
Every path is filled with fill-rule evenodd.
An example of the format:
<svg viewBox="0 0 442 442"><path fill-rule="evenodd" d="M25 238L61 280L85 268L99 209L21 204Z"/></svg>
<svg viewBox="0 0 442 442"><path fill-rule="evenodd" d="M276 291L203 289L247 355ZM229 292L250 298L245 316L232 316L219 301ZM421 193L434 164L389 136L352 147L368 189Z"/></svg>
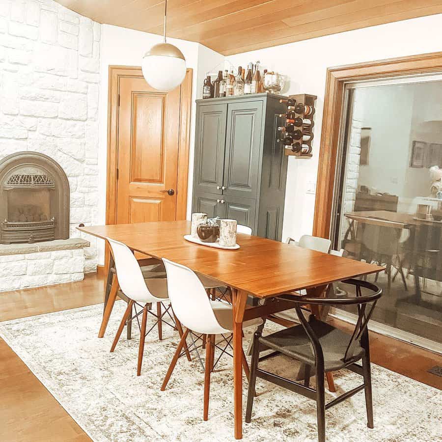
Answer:
<svg viewBox="0 0 442 442"><path fill-rule="evenodd" d="M290 84L284 93L318 96L313 158L289 157L283 238L299 238L312 231L315 195L307 194L306 190L308 182L316 181L317 177L327 68L438 51L442 51L442 14L227 57L235 66L260 60L264 68L286 74Z"/></svg>

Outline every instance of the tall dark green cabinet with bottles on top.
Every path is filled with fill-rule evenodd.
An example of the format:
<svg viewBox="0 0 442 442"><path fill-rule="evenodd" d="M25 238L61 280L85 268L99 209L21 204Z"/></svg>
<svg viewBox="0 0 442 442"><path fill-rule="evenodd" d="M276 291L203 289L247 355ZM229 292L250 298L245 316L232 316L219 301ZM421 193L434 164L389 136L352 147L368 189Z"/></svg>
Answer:
<svg viewBox="0 0 442 442"><path fill-rule="evenodd" d="M193 212L231 218L281 240L287 157L277 131L281 96L196 101Z"/></svg>

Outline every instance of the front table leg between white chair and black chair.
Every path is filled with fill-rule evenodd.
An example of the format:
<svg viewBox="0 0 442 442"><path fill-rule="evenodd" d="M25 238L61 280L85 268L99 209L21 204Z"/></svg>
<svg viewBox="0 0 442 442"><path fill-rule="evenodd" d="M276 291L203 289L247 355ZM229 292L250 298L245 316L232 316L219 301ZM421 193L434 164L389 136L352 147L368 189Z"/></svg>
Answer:
<svg viewBox="0 0 442 442"><path fill-rule="evenodd" d="M233 299L233 408L235 439L243 438L243 317L247 293L236 289Z"/></svg>

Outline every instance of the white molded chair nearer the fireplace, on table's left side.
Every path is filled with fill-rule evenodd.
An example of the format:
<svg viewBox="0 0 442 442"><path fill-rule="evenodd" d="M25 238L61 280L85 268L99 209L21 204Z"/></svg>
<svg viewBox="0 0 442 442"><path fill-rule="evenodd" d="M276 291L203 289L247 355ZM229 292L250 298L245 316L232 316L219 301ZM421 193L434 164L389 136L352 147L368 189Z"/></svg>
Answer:
<svg viewBox="0 0 442 442"><path fill-rule="evenodd" d="M158 335L160 340L162 340L163 323L169 325L172 328L175 328L176 324L176 328L178 329L180 336L182 336L183 331L181 328L181 324L179 324L179 321L176 321L176 319L174 325L169 324L167 321L163 319L164 315L167 313L170 316L171 320L173 321L173 318L168 311L170 308L170 304L168 307L164 305L164 303L169 302L169 299L167 297L166 278L144 279L138 261L134 256L134 254L132 253L132 251L123 243L112 240L111 238L106 238L106 239L111 246L111 251L113 259L115 261L115 270L118 276L118 283L120 285L120 289L124 293L124 295L126 295L126 297L129 298L126 311L124 312L120 326L115 335L115 339L113 340L111 352L115 350L115 347L118 343L118 339L120 338L121 332L124 329L124 325L126 324L127 320L132 316L132 307L134 306L134 304L140 305L142 307L143 316L141 319L141 329L140 329L139 349L138 349L137 376L139 376L141 374L144 339L147 333L149 333L155 327L155 325L158 325ZM157 314L149 310L152 303L156 303L158 306ZM165 309L164 312L162 312L161 309L162 306ZM141 313L141 311L137 313L136 308L135 312L136 314L135 316L132 317L132 319L138 317L138 315ZM157 318L157 322L146 333L148 312ZM190 359L189 356L188 359Z"/></svg>

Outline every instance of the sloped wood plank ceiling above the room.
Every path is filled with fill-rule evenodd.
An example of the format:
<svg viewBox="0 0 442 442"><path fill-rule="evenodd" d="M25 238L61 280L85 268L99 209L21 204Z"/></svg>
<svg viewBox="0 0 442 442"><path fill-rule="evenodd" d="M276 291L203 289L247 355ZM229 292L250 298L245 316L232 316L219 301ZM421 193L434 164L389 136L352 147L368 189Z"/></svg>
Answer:
<svg viewBox="0 0 442 442"><path fill-rule="evenodd" d="M57 1L99 23L163 33L164 1ZM167 36L231 55L441 12L442 0L168 0Z"/></svg>

